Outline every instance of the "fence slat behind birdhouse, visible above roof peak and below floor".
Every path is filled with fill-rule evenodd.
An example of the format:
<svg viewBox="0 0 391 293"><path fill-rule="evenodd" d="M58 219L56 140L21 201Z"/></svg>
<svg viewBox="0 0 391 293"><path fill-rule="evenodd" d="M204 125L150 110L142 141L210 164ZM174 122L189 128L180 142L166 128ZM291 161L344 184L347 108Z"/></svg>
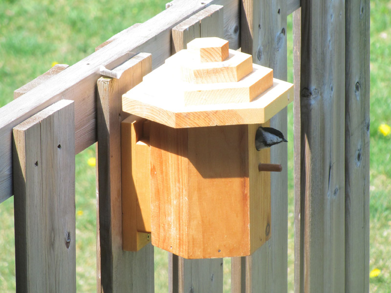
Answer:
<svg viewBox="0 0 391 293"><path fill-rule="evenodd" d="M179 23L172 32L173 54L186 48L187 42L195 38L223 38L223 7L210 5ZM169 284L170 292L222 292L222 258L188 260L169 254L169 263L169 282L173 282ZM178 271L175 272L174 268Z"/></svg>

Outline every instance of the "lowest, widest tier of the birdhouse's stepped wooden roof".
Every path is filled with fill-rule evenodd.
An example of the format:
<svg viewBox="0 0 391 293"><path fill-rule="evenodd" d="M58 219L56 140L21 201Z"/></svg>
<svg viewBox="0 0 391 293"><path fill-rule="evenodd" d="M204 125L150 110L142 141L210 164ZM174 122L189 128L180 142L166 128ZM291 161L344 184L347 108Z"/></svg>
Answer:
<svg viewBox="0 0 391 293"><path fill-rule="evenodd" d="M264 123L293 101L292 84L273 82L272 88L249 103L187 107L175 100L169 102L173 96L147 95L140 84L131 94L123 95L122 106L128 113L175 128Z"/></svg>

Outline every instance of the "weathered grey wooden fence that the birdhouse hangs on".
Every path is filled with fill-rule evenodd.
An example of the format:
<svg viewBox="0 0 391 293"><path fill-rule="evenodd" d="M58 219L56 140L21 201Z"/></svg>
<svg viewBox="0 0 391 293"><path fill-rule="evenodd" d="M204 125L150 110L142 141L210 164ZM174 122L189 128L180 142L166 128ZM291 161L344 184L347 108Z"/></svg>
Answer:
<svg viewBox="0 0 391 293"><path fill-rule="evenodd" d="M122 250L122 93L206 36L224 37L286 80L293 13L295 292L368 292L369 0L167 6L0 108L0 202L15 196L17 291L76 291L74 155L98 141L97 291L153 292L153 247ZM129 52L151 53L152 62ZM120 78L101 78L101 65L124 62ZM284 109L270 125L286 133L286 117ZM272 237L251 256L232 259L232 292L287 292L286 146L271 148L270 157L283 166L271 175ZM169 291L222 292L222 272L222 259L170 255Z"/></svg>

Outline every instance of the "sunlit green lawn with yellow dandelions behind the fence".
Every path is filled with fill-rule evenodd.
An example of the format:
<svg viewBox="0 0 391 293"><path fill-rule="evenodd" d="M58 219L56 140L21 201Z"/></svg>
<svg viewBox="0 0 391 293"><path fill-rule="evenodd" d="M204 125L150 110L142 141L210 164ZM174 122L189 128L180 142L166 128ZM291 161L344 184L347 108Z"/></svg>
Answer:
<svg viewBox="0 0 391 293"><path fill-rule="evenodd" d="M0 106L53 63L72 65L100 43L165 8L168 0L114 2L0 0ZM391 1L371 0L370 27L370 292L391 292ZM292 26L288 18L288 80ZM293 142L293 108L288 107ZM381 131L380 131L380 130ZM95 146L76 160L77 290L96 291ZM288 144L288 291L293 292L293 143ZM0 292L15 292L13 198L0 204ZM167 292L167 255L155 250L156 292ZM229 275L229 259L224 261ZM229 292L229 280L225 284Z"/></svg>

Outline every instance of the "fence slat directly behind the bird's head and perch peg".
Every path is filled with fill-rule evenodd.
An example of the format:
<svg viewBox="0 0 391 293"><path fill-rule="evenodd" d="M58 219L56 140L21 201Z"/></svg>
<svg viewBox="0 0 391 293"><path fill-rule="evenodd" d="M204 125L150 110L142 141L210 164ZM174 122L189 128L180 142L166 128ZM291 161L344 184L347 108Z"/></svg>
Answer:
<svg viewBox="0 0 391 293"><path fill-rule="evenodd" d="M241 51L253 55L254 63L273 68L274 77L282 80L287 78L285 4L243 0L241 15ZM284 134L286 115L285 108L270 120ZM271 147L270 161L283 170L271 174L271 238L244 261L233 259L235 292L287 291L287 146Z"/></svg>

